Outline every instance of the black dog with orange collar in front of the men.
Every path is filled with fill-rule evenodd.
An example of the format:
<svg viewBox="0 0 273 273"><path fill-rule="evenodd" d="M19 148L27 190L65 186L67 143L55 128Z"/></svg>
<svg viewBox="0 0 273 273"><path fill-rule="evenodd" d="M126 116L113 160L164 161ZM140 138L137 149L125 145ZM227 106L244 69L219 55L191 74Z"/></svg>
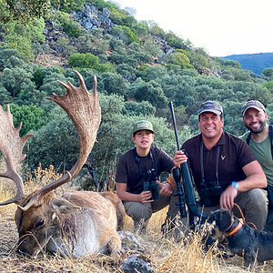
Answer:
<svg viewBox="0 0 273 273"><path fill-rule="evenodd" d="M226 237L228 248L240 257L244 257L246 264L253 265L255 258L258 262L273 259L273 233L259 231L242 224L229 210L213 211L207 221L215 222L211 237Z"/></svg>

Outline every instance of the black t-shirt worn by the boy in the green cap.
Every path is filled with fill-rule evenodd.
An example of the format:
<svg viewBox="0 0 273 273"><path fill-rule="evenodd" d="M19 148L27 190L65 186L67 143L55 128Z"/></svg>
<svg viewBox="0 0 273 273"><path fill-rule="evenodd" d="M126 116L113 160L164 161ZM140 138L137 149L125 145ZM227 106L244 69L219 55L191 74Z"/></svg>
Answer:
<svg viewBox="0 0 273 273"><path fill-rule="evenodd" d="M136 147L134 148L136 149ZM139 157L139 165L136 163L134 155L134 149L127 151L124 155L119 158L117 170L116 170L116 182L126 183L126 191L129 193L139 194L143 191L143 182L154 180L154 177L159 177L162 172L170 172L174 163L171 157L159 147L151 147L150 152L152 153L155 166L153 166L152 158L150 155L147 157ZM148 170L155 168L155 176L151 174L146 177ZM143 174L139 176L140 174Z"/></svg>

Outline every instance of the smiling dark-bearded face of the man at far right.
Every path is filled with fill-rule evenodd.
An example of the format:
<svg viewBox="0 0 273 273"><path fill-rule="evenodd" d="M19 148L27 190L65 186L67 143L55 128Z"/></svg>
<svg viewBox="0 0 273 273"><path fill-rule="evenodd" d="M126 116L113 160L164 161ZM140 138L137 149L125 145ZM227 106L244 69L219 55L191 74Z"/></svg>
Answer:
<svg viewBox="0 0 273 273"><path fill-rule="evenodd" d="M267 124L268 114L255 108L248 108L243 116L243 122L253 134L262 132Z"/></svg>

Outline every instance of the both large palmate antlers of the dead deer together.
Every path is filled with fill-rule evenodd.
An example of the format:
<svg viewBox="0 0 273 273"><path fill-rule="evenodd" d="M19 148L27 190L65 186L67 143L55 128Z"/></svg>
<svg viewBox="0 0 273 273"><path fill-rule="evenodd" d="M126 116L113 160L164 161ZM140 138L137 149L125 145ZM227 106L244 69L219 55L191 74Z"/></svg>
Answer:
<svg viewBox="0 0 273 273"><path fill-rule="evenodd" d="M83 77L77 71L74 71L74 73L79 79L79 87L73 86L70 82L65 84L58 81L62 86L66 87L66 95L57 96L53 94L53 97L46 97L46 99L52 100L61 106L73 121L79 137L78 159L76 164L69 171L66 171L63 177L60 177L28 196L25 195L24 183L16 167L25 158L25 155L22 155L22 151L26 140L33 135L29 134L20 137L19 131L22 123L15 128L9 106L7 106L6 111L0 106L0 150L6 163L6 172L0 174L0 177L14 180L16 186L15 197L1 202L0 206L15 203L23 211L26 211L30 207L39 206L42 197L45 196L46 193L49 193L56 187L63 185L75 177L86 163L86 159L96 141L96 132L100 124L101 110L96 94L96 76L94 76L93 92L90 94L86 89ZM25 200L27 200L26 203Z"/></svg>

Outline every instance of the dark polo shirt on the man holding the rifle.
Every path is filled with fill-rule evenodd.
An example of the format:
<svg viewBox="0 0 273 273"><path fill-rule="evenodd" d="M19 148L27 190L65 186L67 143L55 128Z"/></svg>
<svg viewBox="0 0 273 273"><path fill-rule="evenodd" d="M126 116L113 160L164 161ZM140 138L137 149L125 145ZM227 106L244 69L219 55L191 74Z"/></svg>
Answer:
<svg viewBox="0 0 273 273"><path fill-rule="evenodd" d="M200 145L201 134L188 139L182 149L187 152L189 167L197 187L200 190L202 180L200 166ZM219 149L219 157L217 158L217 147ZM218 181L219 185L224 189L230 185L232 181L239 181L246 178L242 167L256 160L254 154L248 145L238 136L223 132L217 142L217 145L210 150L203 146L203 164L206 183L216 181L216 160L218 160Z"/></svg>

